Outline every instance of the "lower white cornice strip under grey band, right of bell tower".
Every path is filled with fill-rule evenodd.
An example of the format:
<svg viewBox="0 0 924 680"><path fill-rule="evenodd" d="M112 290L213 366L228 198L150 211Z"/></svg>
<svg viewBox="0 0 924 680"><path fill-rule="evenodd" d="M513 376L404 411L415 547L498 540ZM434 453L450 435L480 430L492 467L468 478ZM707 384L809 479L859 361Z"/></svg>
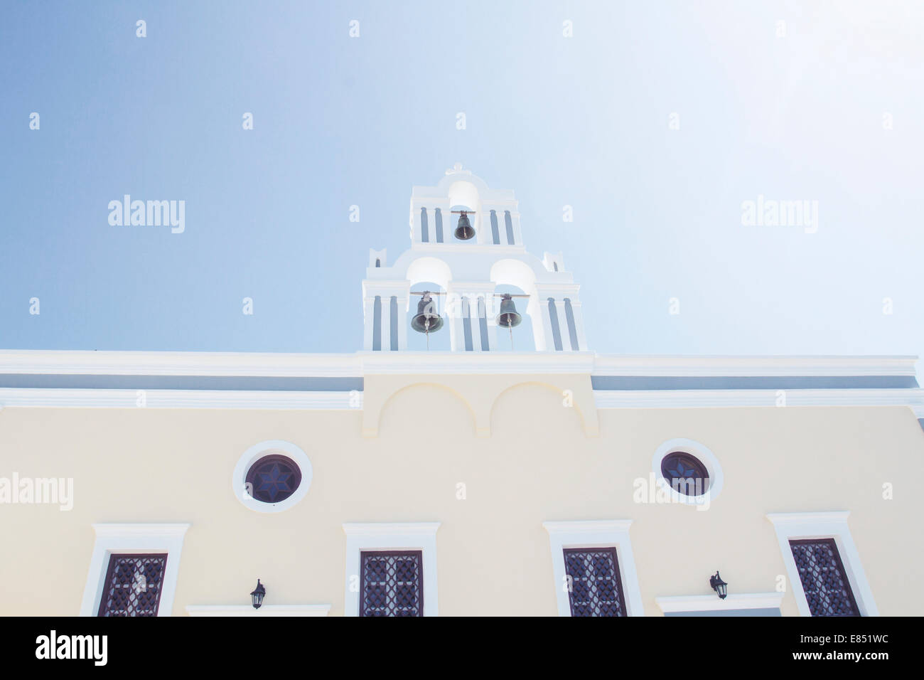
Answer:
<svg viewBox="0 0 924 680"><path fill-rule="evenodd" d="M779 391L785 404L777 406ZM924 389L596 389L597 408L728 408L734 406L910 406L924 408Z"/></svg>

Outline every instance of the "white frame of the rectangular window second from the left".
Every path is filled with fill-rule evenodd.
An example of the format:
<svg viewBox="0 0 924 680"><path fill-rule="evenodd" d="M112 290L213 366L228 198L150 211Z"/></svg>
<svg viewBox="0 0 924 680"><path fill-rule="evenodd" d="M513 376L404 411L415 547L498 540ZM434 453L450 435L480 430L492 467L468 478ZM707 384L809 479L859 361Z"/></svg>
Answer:
<svg viewBox="0 0 924 680"><path fill-rule="evenodd" d="M343 525L346 533L344 615L359 616L360 555L371 550L420 550L423 554L423 615L439 614L436 530L439 522L371 522ZM352 586L352 587L351 587Z"/></svg>

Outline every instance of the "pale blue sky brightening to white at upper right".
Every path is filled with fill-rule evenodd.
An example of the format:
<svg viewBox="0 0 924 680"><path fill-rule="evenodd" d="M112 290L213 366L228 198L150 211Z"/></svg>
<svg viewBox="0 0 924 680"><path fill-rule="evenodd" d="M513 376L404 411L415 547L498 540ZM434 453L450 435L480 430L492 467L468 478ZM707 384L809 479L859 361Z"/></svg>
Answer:
<svg viewBox="0 0 924 680"><path fill-rule="evenodd" d="M369 248L458 161L597 352L924 354L924 6L802 5L6 2L0 347L353 352ZM109 225L126 193L185 232Z"/></svg>

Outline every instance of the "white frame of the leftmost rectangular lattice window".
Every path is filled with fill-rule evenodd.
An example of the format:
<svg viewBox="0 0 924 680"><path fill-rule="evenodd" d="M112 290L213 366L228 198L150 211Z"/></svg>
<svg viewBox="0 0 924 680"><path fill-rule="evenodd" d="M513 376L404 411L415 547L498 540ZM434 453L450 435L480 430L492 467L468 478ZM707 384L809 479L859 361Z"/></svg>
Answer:
<svg viewBox="0 0 924 680"><path fill-rule="evenodd" d="M167 562L161 582L161 599L158 616L173 613L176 594L176 576L179 574L179 557L188 524L101 524L93 525L96 542L90 559L90 572L83 587L80 616L96 616L100 611L109 560L113 555L166 553Z"/></svg>

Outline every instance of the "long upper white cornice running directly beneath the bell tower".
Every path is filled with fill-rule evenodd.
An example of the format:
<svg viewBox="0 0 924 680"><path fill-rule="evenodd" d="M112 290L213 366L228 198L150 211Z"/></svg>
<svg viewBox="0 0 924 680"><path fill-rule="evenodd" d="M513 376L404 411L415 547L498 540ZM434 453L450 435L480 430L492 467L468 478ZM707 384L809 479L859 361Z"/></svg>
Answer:
<svg viewBox="0 0 924 680"><path fill-rule="evenodd" d="M915 356L665 356L593 352L346 354L0 350L0 374L361 377L364 374L420 373L587 373L594 377L914 377L916 361Z"/></svg>

